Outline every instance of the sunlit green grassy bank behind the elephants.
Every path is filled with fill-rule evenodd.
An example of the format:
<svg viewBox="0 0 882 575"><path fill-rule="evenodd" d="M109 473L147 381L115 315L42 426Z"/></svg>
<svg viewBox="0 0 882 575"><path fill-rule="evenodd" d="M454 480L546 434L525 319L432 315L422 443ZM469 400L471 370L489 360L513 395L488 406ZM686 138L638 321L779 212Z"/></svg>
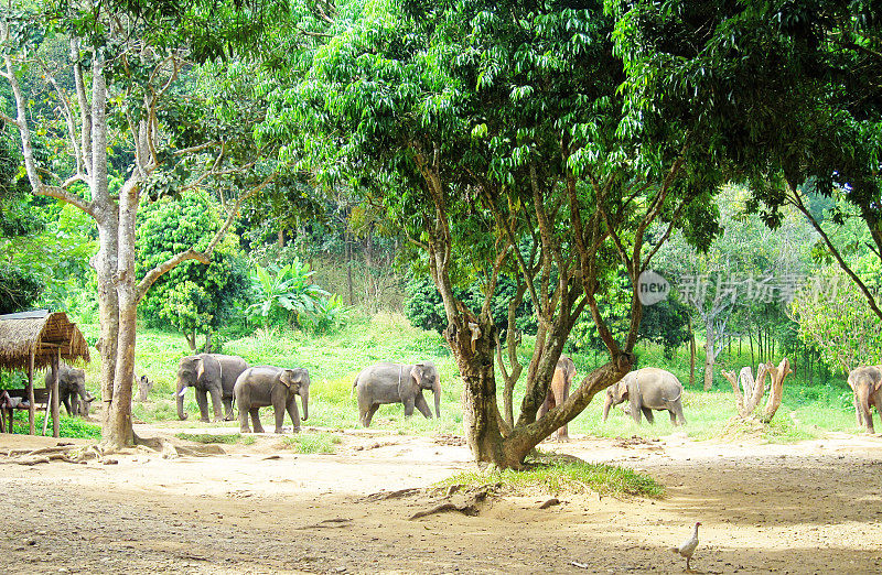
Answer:
<svg viewBox="0 0 882 575"><path fill-rule="evenodd" d="M88 335L97 333L97 326L84 326ZM531 339L525 337L521 360L529 361ZM374 316L354 315L338 333L314 336L302 332L257 329L254 335L227 341L224 352L244 357L251 365L275 365L282 367L304 367L310 370L311 425L352 428L358 426L355 399L351 397L355 376L362 368L377 361L415 362L433 361L441 373L442 400L441 419L426 420L416 414L405 419L401 405L384 405L374 416L372 427L394 430L401 434L461 434L462 412L460 395L462 381L458 376L453 358L439 334L411 327L398 314L377 314ZM198 410L193 392L187 393L186 410L191 413L186 422L176 422L173 398L174 377L178 361L189 355L184 338L178 334L141 330L138 334L138 375L147 373L155 386L150 401L136 404L135 416L148 422L175 421L175 425L198 427L195 421ZM579 375L589 373L604 360L601 355L574 354ZM740 362L743 361L743 362ZM735 358L731 361L740 367L747 365L750 358ZM660 348L641 346L638 366L657 366L674 372L680 381L689 380L689 357L680 352L673 359L664 358ZM87 367L89 387L97 394L98 364ZM700 376L697 376L700 384ZM729 420L735 414L734 400L721 377L714 390L703 392L687 387L684 395L684 411L687 425L682 430L695 438L731 436ZM577 377L579 381L579 377ZM841 384L840 384L841 383ZM827 386L807 386L790 376L785 381L784 403L772 426L765 430L765 438L774 442L790 442L820 436L825 431L857 432L850 392L845 381ZM501 386L502 387L502 386ZM515 390L516 405L524 393L524 381ZM431 404L431 398L427 397ZM499 398L502 402L502 398ZM656 424L635 424L620 410L614 410L610 420L601 421L603 395L599 394L585 411L570 423L573 434L595 436L654 437L674 431L667 413L656 412ZM263 421L271 422L271 410L263 410ZM290 424L290 423L289 423ZM225 425L235 427L235 422Z"/></svg>

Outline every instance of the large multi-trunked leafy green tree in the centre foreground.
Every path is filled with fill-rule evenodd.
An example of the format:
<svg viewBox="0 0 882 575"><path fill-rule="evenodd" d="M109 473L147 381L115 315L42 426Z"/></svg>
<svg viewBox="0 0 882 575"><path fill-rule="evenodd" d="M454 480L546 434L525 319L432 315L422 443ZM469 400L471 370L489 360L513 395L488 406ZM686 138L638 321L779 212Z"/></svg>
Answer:
<svg viewBox="0 0 882 575"><path fill-rule="evenodd" d="M480 462L520 466L628 371L641 319L636 291L622 340L598 299L620 265L637 284L657 249L644 249L652 224L662 229L654 246L682 223L695 238L716 229L693 202L716 189L714 172L691 169L703 165L691 161L702 142L679 119L667 141L641 142L641 119L619 97L623 69L611 31L603 6L591 1L373 3L298 63L306 79L268 113L269 133L288 134L315 160L313 169L354 176L427 261L465 383L467 443ZM491 307L501 275L518 285L512 308L529 297L539 324L517 419L510 395L502 412L497 404L502 337ZM484 300L471 310L454 288L474 279ZM537 421L583 310L609 361ZM517 337L507 336L505 375L521 369L512 351Z"/></svg>

